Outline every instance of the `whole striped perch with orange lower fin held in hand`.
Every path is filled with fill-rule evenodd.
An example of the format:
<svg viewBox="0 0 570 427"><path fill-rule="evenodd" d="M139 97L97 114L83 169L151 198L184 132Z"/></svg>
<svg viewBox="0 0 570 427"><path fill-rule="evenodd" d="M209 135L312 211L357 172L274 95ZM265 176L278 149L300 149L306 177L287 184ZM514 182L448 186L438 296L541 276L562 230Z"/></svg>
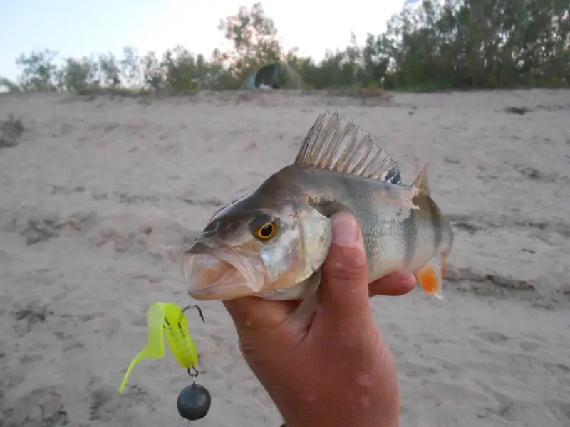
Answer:
<svg viewBox="0 0 570 427"><path fill-rule="evenodd" d="M188 295L308 306L331 246L331 215L348 211L361 227L370 283L397 270L414 273L427 294L442 298L453 232L431 197L428 164L405 184L369 132L327 110L293 163L215 212L184 251Z"/></svg>

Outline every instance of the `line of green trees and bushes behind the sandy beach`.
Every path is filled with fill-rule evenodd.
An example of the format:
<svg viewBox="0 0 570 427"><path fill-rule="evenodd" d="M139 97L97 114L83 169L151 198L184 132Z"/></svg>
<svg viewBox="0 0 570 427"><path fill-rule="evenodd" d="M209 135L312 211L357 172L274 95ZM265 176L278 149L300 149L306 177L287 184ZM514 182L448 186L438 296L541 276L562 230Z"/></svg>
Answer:
<svg viewBox="0 0 570 427"><path fill-rule="evenodd" d="M562 87L570 85L568 0L408 0L379 35L362 44L354 34L343 50L326 51L316 62L285 51L274 21L261 3L227 16L219 30L232 48L210 58L175 46L159 58L135 48L65 58L38 51L16 59L16 82L0 78L9 91L236 90L259 65L286 61L307 88Z"/></svg>

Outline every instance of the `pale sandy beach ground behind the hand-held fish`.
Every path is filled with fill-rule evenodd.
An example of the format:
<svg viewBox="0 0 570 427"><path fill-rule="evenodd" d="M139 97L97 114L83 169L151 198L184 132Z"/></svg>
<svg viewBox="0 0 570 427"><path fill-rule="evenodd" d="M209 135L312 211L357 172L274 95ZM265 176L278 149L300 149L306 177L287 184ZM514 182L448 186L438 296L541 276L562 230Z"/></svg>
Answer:
<svg viewBox="0 0 570 427"><path fill-rule="evenodd" d="M570 426L570 92L556 90L0 97L0 120L25 129L0 150L0 426L185 426L172 355L117 391L147 307L185 304L181 248L291 162L327 109L371 131L405 181L430 160L455 230L444 300L373 300L401 425ZM201 305L213 403L193 425L279 426L222 304Z"/></svg>

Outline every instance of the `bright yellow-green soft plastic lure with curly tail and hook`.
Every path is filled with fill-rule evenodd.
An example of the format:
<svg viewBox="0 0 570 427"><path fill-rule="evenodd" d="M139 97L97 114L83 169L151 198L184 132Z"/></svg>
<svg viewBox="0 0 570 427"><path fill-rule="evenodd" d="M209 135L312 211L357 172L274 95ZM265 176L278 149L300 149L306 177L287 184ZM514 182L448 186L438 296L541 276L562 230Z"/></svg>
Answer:
<svg viewBox="0 0 570 427"><path fill-rule="evenodd" d="M200 317L204 321L202 310L199 310ZM147 310L147 344L139 354L135 356L120 384L119 393L123 393L130 371L135 364L144 359L161 359L165 355L164 334L166 331L166 342L172 351L177 362L186 369L194 368L198 363L198 352L194 341L188 332L188 321L185 309L180 308L174 302L155 302Z"/></svg>

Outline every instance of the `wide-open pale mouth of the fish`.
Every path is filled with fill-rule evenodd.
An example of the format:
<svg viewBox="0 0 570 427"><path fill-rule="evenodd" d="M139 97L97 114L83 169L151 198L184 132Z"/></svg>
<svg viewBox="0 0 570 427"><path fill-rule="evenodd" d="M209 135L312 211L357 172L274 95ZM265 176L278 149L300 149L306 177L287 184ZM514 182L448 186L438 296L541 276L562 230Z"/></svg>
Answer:
<svg viewBox="0 0 570 427"><path fill-rule="evenodd" d="M232 300L263 288L261 258L243 255L231 246L197 242L182 257L187 291L195 300Z"/></svg>

